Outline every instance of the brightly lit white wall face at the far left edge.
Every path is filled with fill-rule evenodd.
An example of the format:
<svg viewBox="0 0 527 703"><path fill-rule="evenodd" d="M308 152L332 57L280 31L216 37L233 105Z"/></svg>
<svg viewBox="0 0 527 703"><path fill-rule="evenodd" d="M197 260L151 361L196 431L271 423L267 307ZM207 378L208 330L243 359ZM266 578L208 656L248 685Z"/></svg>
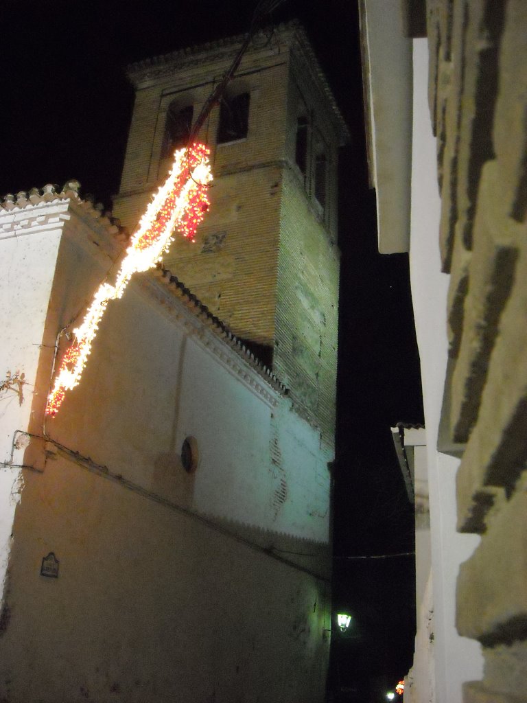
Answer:
<svg viewBox="0 0 527 703"><path fill-rule="evenodd" d="M44 322L55 273L60 243L61 213L67 204L46 204L44 222L20 226L35 218L43 208L0 211L0 601L11 545L15 505L20 498L21 476L18 465L22 452L13 446L15 430L27 430L33 401L34 380L41 353ZM22 387L9 387L11 378L24 375ZM1 387L1 386L0 386ZM18 392L20 390L20 393ZM19 441L23 438L19 437ZM14 466L13 466L14 464Z"/></svg>

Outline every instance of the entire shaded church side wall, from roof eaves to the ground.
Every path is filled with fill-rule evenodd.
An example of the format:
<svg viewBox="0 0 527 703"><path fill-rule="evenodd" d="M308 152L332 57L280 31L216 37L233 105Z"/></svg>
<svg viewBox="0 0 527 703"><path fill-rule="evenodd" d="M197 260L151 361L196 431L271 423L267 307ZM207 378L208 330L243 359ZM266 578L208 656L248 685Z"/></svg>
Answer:
<svg viewBox="0 0 527 703"><path fill-rule="evenodd" d="M112 255L74 208L46 343ZM150 274L131 283L46 423L51 441L26 451L44 470L23 471L15 512L0 637L10 703L323 700L332 456L188 306ZM48 355L44 396L50 370ZM40 575L49 552L58 579Z"/></svg>

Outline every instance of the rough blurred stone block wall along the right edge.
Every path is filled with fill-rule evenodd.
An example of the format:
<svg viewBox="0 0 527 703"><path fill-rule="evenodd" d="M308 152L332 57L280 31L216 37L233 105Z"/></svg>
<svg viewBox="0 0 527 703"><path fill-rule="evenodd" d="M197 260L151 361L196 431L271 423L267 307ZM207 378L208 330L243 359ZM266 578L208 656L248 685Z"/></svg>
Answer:
<svg viewBox="0 0 527 703"><path fill-rule="evenodd" d="M427 2L441 254L450 273L451 439L460 531L457 629L483 645L467 703L527 700L527 4Z"/></svg>

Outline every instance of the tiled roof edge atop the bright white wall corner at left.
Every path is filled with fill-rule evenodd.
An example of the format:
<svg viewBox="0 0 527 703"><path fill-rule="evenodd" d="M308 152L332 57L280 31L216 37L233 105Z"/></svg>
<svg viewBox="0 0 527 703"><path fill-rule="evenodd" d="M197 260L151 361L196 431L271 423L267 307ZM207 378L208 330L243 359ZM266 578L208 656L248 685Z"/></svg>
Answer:
<svg viewBox="0 0 527 703"><path fill-rule="evenodd" d="M105 210L102 202L96 202L89 193L81 197L79 195L80 187L81 184L77 179L70 179L65 182L60 190L56 184L46 183L42 188L19 191L15 195L7 193L4 196L0 196L0 213L2 210L16 212L27 207L39 207L43 203L70 199L77 202L77 205L82 207L85 214L98 221L98 224L107 229L110 234L116 236L117 239L128 239L129 233L125 227L121 226L121 221L117 217L113 217L112 212Z"/></svg>

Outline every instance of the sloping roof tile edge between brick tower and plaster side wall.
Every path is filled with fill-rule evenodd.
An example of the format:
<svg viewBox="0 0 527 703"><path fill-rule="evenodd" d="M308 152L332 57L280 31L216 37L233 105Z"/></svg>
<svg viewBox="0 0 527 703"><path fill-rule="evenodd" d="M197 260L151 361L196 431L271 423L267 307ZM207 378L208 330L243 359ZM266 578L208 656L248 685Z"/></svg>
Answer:
<svg viewBox="0 0 527 703"><path fill-rule="evenodd" d="M262 361L260 361L260 359L258 359L258 357L251 352L250 349L248 349L247 346L243 344L243 342L238 339L233 332L229 330L227 325L223 323L219 317L213 315L212 312L209 311L208 307L204 305L193 292L188 290L188 288L181 283L177 276L174 276L174 273L171 273L169 269L165 269L161 263L157 264L155 273L164 283L170 285L178 297L187 302L188 307L193 309L198 317L204 316L207 318L212 328L214 328L214 331L227 342L229 347L234 349L235 352L238 352L238 354L240 354L245 361L249 363L249 366L252 366L252 368L258 371L258 373L263 376L263 378L265 378L275 390L282 395L287 394L287 387L284 383L282 383L282 381L280 381L273 371Z"/></svg>

